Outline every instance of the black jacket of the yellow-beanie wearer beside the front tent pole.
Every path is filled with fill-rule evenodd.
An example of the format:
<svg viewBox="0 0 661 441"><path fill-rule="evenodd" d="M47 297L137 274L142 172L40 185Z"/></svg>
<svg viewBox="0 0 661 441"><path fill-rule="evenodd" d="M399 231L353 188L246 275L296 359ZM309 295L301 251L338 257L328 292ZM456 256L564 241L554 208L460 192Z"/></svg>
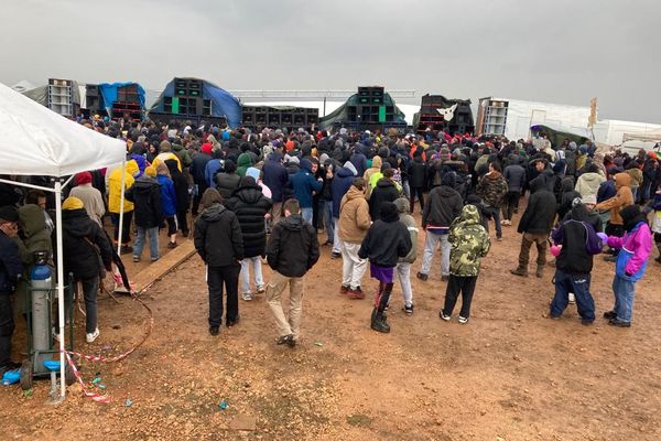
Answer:
<svg viewBox="0 0 661 441"><path fill-rule="evenodd" d="M99 276L101 271L99 255L104 267L110 270L112 261L110 240L99 224L87 215L85 208L62 212L62 233L65 277L69 272L74 273L75 280Z"/></svg>

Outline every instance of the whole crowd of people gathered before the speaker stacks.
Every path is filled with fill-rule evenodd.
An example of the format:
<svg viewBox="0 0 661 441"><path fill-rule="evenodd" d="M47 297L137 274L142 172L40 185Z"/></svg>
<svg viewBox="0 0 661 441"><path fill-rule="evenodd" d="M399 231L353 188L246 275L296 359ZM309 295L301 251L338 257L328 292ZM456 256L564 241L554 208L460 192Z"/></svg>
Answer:
<svg viewBox="0 0 661 441"><path fill-rule="evenodd" d="M604 316L630 326L635 283L646 271L652 233L661 255L661 168L653 151L631 157L598 151L588 140L552 146L431 130L253 132L96 118L80 122L124 139L128 151L126 169L77 174L63 204L65 272L80 282L89 343L99 335L96 294L104 272L112 271L113 245L140 261L149 243L149 258L156 261L160 229L166 229L169 248L193 232L207 268L212 335L219 333L223 316L227 326L239 322L240 290L243 301L264 294L278 343L290 346L300 338L304 276L324 248L343 260L337 279L348 299L365 298L369 268L378 283L373 330L390 331L387 311L395 279L403 310L413 314L411 268L423 233L415 277L430 281L440 247L440 279L446 282L440 318L452 320L460 293L457 320L467 323L480 260L491 247L489 229L492 225L496 240L502 240L502 228L514 225L527 194L511 273L529 276L534 244L534 275L542 278L551 244L552 318L575 301L582 323L593 323L589 276L594 256L607 246L607 259L616 263L615 304ZM50 184L47 176L2 178ZM53 196L21 189L0 183L0 365L6 367L12 366L13 311L24 313L28 304L23 293L12 308L10 294L25 291L35 251L53 256ZM414 218L416 207L421 222ZM106 217L111 235L104 229ZM273 270L268 282L263 259ZM655 260L661 263L661 256ZM281 295L288 284L285 313Z"/></svg>

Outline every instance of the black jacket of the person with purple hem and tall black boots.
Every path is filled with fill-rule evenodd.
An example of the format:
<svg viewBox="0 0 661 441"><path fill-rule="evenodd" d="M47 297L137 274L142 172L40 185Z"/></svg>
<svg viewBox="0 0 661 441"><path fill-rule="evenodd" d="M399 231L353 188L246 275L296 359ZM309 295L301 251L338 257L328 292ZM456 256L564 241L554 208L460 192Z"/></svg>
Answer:
<svg viewBox="0 0 661 441"><path fill-rule="evenodd" d="M401 257L411 250L411 235L404 224L399 222L395 213L383 219L375 220L362 239L358 257L369 258L370 263L379 267L394 268Z"/></svg>

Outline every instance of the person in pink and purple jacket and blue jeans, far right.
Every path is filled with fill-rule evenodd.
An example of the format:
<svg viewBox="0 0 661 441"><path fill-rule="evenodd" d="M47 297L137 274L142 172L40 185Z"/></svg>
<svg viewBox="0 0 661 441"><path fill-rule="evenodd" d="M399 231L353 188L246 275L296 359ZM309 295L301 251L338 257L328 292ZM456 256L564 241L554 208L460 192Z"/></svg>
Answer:
<svg viewBox="0 0 661 441"><path fill-rule="evenodd" d="M620 251L617 255L613 292L615 306L604 313L604 319L614 326L631 326L633 311L633 289L636 281L644 275L647 260L652 251L652 232L638 205L629 205L620 211L625 236L608 237L608 246Z"/></svg>

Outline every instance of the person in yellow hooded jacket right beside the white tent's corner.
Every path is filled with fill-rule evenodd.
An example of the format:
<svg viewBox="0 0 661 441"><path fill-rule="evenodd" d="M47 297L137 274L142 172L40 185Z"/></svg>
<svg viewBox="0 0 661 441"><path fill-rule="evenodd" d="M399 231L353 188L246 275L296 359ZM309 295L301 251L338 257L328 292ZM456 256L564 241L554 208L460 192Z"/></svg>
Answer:
<svg viewBox="0 0 661 441"><path fill-rule="evenodd" d="M121 168L115 169L110 172L108 178L108 212L110 213L110 219L115 226L112 238L117 244L119 236L119 212L121 204ZM138 163L133 160L127 162L126 178L124 178L124 192L133 185L136 181L133 176L140 172ZM131 241L131 219L133 218L133 203L123 200L123 222L121 228L121 254L129 254L133 251L133 248L129 246Z"/></svg>

